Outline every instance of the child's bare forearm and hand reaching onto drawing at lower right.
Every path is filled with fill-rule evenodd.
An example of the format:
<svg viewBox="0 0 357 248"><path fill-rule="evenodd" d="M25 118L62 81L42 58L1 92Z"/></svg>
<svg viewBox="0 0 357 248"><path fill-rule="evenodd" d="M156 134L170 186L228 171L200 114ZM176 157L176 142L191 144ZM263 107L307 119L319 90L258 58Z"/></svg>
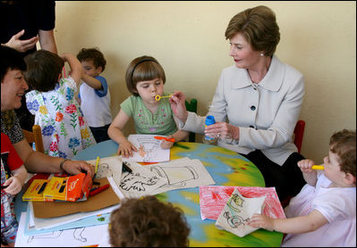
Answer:
<svg viewBox="0 0 357 248"><path fill-rule="evenodd" d="M327 219L319 211L314 210L308 215L289 219L271 219L266 215L255 213L247 224L285 234L302 234L315 231L327 223Z"/></svg>

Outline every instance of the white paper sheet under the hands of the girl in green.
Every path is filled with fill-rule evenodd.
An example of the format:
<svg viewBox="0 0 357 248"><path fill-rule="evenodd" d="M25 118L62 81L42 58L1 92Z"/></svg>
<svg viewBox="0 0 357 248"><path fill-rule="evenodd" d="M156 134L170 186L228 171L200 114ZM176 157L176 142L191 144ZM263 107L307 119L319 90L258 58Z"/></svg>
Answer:
<svg viewBox="0 0 357 248"><path fill-rule="evenodd" d="M123 158L129 162L160 162L170 160L170 149L162 149L161 140L154 138L157 135L130 135L128 140L135 145L138 152L131 158Z"/></svg>

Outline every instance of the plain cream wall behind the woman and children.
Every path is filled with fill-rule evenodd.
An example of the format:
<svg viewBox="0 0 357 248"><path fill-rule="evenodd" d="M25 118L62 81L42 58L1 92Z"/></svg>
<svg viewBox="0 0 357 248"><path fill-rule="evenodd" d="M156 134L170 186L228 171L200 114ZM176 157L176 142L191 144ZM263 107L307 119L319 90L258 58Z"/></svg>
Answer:
<svg viewBox="0 0 357 248"><path fill-rule="evenodd" d="M276 12L281 33L276 55L305 76L302 154L320 163L334 131L356 128L354 1L57 1L55 39L59 53L98 46L105 54L103 76L114 116L129 95L126 67L144 54L166 70L166 92L182 90L197 98L199 114L205 115L221 70L233 64L225 40L228 21L259 4Z"/></svg>

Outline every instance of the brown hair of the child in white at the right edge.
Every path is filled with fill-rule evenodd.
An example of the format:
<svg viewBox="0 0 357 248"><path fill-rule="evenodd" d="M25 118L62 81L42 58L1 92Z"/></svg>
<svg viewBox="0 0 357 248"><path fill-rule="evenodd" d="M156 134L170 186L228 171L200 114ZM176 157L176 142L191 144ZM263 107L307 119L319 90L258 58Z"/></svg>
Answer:
<svg viewBox="0 0 357 248"><path fill-rule="evenodd" d="M356 131L336 132L330 138L330 151L340 158L341 170L356 177Z"/></svg>

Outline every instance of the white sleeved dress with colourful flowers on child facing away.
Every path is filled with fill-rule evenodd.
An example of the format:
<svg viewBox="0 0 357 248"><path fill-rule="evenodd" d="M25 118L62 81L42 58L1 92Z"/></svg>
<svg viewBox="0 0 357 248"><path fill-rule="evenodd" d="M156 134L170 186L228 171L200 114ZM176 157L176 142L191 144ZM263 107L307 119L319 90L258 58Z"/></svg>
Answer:
<svg viewBox="0 0 357 248"><path fill-rule="evenodd" d="M69 77L61 79L54 90L32 90L26 94L27 108L42 129L45 153L50 156L71 159L82 149L96 144L74 98L76 91L76 83Z"/></svg>

